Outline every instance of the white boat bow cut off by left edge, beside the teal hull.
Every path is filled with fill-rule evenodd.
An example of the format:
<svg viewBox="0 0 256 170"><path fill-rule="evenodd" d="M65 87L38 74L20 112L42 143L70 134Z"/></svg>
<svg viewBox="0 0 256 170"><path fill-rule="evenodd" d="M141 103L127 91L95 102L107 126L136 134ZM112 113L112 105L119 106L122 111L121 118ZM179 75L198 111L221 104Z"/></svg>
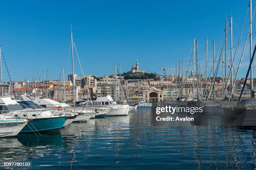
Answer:
<svg viewBox="0 0 256 170"><path fill-rule="evenodd" d="M0 114L0 137L16 136L27 123L28 120L26 119L15 119Z"/></svg>

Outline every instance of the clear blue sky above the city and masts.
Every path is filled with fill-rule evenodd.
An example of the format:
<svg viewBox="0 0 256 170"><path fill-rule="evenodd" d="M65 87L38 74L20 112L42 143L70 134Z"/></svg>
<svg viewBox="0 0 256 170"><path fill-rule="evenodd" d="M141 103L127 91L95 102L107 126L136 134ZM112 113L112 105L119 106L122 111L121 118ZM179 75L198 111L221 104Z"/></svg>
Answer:
<svg viewBox="0 0 256 170"><path fill-rule="evenodd" d="M248 0L46 0L5 1L0 6L0 44L11 79L20 81L36 74L42 79L43 69L49 70L49 79L58 79L62 69L66 75L72 71L71 24L84 74L109 75L115 61L126 72L136 59L140 69L163 74L159 67L173 68L175 60L184 58L185 65L193 38L198 39L199 56L206 37L209 51L212 40L217 51L231 11L236 46ZM244 58L242 75L248 49ZM74 66L80 76L77 57ZM8 81L4 65L3 79Z"/></svg>

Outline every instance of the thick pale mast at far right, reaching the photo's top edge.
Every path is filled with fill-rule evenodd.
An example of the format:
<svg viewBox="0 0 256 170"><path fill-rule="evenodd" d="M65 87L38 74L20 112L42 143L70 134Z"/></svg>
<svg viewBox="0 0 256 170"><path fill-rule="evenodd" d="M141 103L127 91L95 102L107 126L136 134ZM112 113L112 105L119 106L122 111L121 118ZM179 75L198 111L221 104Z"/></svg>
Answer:
<svg viewBox="0 0 256 170"><path fill-rule="evenodd" d="M250 59L252 59L252 5L250 0ZM251 63L251 102L253 104L253 63Z"/></svg>

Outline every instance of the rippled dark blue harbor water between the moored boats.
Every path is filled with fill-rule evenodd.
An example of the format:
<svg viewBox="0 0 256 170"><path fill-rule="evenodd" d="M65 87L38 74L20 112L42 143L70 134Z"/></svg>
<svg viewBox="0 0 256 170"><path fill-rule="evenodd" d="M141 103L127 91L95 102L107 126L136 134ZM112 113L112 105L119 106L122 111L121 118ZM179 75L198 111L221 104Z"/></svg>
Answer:
<svg viewBox="0 0 256 170"><path fill-rule="evenodd" d="M58 133L0 139L0 163L31 169L253 169L256 128L153 124L151 108L73 123ZM2 169L2 167L0 167ZM30 169L30 168L28 168Z"/></svg>

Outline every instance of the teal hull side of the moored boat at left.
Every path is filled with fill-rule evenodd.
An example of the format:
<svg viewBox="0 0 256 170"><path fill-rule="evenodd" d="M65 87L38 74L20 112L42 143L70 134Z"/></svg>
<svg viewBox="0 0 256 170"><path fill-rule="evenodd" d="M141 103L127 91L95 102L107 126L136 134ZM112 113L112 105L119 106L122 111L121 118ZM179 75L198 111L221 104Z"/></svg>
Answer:
<svg viewBox="0 0 256 170"><path fill-rule="evenodd" d="M42 132L54 129L60 129L66 121L66 117L47 117L47 118L37 118L33 119L26 124L25 127L20 131L20 133L29 132Z"/></svg>

